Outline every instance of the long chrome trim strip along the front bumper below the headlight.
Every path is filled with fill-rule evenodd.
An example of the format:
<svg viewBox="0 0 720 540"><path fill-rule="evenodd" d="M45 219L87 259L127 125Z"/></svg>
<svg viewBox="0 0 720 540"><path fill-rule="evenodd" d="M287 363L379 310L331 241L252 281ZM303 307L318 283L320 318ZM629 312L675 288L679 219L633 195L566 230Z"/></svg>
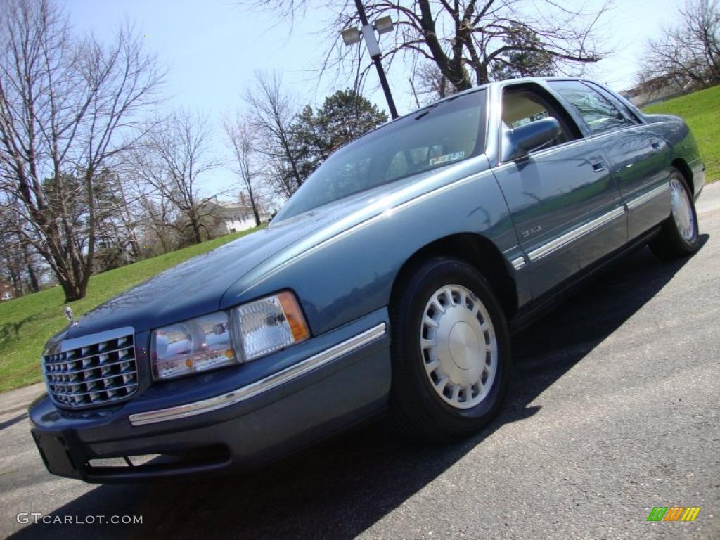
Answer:
<svg viewBox="0 0 720 540"><path fill-rule="evenodd" d="M209 397L201 401L186 403L184 405L176 405L175 407L132 414L130 415L130 423L132 426L145 426L147 424L166 422L168 420L178 420L179 418L188 418L189 416L210 413L213 410L222 409L249 400L251 397L272 390L286 382L298 379L302 377L302 375L310 373L321 366L330 364L330 362L339 359L345 354L372 343L372 341L385 335L387 331L386 328L387 325L385 323L380 323L346 341L325 349L325 351L310 356L310 358L302 360L297 364L282 369L264 379L226 392L225 394Z"/></svg>

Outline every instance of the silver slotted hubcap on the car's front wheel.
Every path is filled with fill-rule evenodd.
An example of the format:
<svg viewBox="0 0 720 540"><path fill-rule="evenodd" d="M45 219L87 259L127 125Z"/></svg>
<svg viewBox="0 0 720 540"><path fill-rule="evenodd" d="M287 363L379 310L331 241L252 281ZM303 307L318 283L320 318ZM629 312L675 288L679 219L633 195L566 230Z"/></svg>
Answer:
<svg viewBox="0 0 720 540"><path fill-rule="evenodd" d="M474 407L490 392L498 341L485 305L462 285L441 287L420 323L420 353L431 386L446 403Z"/></svg>

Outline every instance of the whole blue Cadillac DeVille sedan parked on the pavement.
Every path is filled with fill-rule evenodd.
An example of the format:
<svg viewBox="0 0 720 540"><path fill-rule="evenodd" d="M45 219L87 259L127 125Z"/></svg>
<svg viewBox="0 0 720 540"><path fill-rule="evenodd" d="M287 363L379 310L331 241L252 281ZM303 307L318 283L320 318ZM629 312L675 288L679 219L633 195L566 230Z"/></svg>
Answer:
<svg viewBox="0 0 720 540"><path fill-rule="evenodd" d="M268 228L48 341L32 435L53 474L250 469L389 411L423 438L503 401L510 333L618 256L698 249L678 117L573 78L488 84L345 145Z"/></svg>

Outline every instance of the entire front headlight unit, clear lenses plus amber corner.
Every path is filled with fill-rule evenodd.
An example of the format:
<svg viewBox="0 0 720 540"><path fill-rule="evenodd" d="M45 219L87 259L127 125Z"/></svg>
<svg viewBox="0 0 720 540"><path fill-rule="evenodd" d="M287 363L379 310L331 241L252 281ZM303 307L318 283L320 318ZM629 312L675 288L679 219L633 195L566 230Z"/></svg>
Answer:
<svg viewBox="0 0 720 540"><path fill-rule="evenodd" d="M174 379L258 359L310 337L292 292L281 292L227 312L158 328L151 338L155 379Z"/></svg>

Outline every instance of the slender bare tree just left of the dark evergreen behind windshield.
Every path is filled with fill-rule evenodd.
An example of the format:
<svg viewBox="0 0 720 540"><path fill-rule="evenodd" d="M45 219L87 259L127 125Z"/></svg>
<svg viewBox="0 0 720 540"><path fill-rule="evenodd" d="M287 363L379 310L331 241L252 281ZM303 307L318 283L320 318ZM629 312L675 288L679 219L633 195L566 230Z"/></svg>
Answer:
<svg viewBox="0 0 720 540"><path fill-rule="evenodd" d="M249 125L257 135L254 150L264 157L264 174L276 195L290 197L302 184L302 175L290 134L296 113L282 91L281 78L274 72L257 72L245 101L251 109Z"/></svg>

